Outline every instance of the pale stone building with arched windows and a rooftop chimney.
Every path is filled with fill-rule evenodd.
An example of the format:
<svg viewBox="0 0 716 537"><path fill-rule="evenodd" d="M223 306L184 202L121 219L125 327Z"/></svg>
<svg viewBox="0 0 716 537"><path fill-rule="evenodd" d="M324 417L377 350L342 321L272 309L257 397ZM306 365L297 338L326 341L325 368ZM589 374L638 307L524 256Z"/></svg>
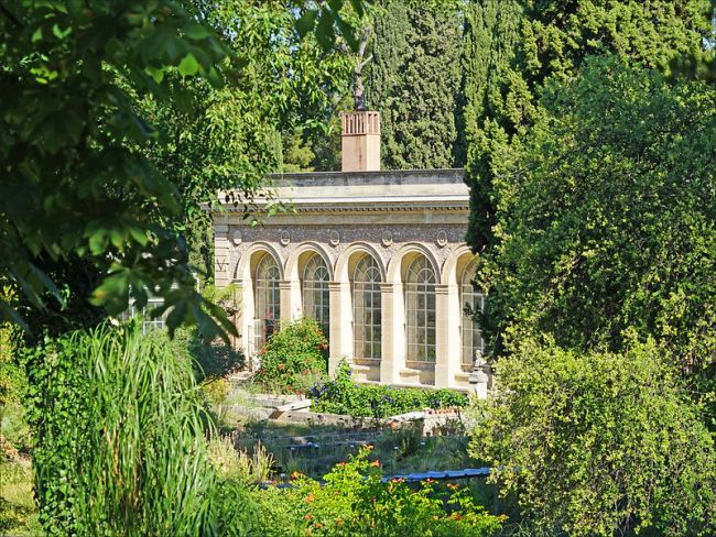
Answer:
<svg viewBox="0 0 716 537"><path fill-rule="evenodd" d="M484 297L463 169L379 168L378 113L347 113L341 172L272 177L291 211L253 227L240 206L214 215L217 285L241 295L238 346L254 355L278 321L310 316L332 372L345 358L359 381L468 388L482 341L465 309Z"/></svg>

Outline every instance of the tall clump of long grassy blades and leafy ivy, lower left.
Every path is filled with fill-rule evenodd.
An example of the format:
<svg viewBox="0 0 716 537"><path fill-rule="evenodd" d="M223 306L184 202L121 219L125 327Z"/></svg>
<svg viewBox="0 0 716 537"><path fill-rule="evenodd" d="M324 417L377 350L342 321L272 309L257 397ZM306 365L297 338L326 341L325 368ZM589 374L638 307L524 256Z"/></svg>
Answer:
<svg viewBox="0 0 716 537"><path fill-rule="evenodd" d="M211 525L205 414L189 362L164 332L100 325L26 359L47 535L196 535Z"/></svg>

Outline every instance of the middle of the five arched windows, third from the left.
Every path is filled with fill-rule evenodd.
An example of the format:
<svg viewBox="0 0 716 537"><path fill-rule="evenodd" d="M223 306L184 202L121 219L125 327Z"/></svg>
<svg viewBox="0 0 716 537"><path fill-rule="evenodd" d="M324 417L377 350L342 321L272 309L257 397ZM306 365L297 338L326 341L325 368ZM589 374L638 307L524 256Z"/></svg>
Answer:
<svg viewBox="0 0 716 537"><path fill-rule="evenodd" d="M352 276L354 357L380 359L380 268L371 255L358 261Z"/></svg>

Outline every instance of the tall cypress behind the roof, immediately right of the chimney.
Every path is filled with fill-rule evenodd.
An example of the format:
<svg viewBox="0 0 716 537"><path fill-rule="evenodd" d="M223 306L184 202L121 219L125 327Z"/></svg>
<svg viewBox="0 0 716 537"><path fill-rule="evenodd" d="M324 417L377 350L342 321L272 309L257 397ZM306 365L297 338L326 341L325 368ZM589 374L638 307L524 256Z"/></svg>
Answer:
<svg viewBox="0 0 716 537"><path fill-rule="evenodd" d="M387 169L455 165L462 52L456 7L393 0L376 9L366 97L381 112Z"/></svg>

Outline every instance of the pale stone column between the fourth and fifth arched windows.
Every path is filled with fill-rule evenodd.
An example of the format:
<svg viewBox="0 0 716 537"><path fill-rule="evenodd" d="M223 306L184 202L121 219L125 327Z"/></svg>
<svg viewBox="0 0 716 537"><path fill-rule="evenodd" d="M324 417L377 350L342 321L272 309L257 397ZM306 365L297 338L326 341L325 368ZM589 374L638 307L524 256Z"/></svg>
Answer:
<svg viewBox="0 0 716 537"><path fill-rule="evenodd" d="M460 304L456 284L435 285L435 386L455 387L460 370Z"/></svg>

